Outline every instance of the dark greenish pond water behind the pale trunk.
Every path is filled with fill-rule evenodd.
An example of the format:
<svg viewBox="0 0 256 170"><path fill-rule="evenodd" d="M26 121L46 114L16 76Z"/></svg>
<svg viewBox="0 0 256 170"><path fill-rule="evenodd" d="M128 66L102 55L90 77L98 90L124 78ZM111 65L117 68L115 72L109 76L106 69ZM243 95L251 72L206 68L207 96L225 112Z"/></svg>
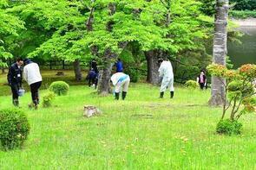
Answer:
<svg viewBox="0 0 256 170"><path fill-rule="evenodd" d="M256 27L240 27L240 30L245 33L240 39L242 43L227 43L228 56L235 68L246 63L256 64Z"/></svg>

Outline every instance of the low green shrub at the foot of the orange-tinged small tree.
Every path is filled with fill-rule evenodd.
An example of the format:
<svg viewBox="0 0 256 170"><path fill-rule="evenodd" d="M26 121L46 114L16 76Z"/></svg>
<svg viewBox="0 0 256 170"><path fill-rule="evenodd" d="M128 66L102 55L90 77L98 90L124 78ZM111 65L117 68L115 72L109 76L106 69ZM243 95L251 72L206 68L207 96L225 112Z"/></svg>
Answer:
<svg viewBox="0 0 256 170"><path fill-rule="evenodd" d="M238 121L226 119L226 120L220 120L220 122L217 124L217 133L223 134L223 135L240 135L242 129L242 123L239 123Z"/></svg>

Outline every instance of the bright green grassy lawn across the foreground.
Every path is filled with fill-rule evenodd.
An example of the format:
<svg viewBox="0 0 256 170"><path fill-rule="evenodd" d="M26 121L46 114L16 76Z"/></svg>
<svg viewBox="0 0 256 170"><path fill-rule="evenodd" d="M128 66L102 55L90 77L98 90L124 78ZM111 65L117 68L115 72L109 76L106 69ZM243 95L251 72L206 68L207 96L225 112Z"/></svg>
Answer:
<svg viewBox="0 0 256 170"><path fill-rule="evenodd" d="M127 100L115 101L76 85L52 108L29 110L27 93L29 140L0 151L0 169L255 169L256 117L241 119L242 135L216 135L221 110L207 107L209 95L176 88L174 99L159 99L158 87L132 84ZM86 104L102 116L83 117ZM0 97L0 108L10 107L10 96Z"/></svg>

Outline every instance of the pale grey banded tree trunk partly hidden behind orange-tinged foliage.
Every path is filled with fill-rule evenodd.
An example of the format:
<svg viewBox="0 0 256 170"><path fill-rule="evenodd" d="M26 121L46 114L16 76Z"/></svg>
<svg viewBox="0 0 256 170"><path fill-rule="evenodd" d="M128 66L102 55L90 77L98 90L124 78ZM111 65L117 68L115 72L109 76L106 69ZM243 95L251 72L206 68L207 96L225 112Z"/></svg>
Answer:
<svg viewBox="0 0 256 170"><path fill-rule="evenodd" d="M213 41L213 63L226 66L226 37L227 37L227 16L228 0L216 0L215 30ZM223 84L224 83L224 84ZM224 104L225 79L212 78L212 97L209 100L211 106Z"/></svg>

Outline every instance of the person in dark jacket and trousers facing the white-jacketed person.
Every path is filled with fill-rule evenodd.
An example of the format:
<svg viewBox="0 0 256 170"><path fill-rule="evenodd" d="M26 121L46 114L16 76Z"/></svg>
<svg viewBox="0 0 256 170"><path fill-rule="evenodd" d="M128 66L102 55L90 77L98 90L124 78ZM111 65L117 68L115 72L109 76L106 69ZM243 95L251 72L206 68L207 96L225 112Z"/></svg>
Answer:
<svg viewBox="0 0 256 170"><path fill-rule="evenodd" d="M22 87L23 82L23 59L17 58L16 63L12 64L7 74L8 84L12 91L12 103L19 106L18 91Z"/></svg>

